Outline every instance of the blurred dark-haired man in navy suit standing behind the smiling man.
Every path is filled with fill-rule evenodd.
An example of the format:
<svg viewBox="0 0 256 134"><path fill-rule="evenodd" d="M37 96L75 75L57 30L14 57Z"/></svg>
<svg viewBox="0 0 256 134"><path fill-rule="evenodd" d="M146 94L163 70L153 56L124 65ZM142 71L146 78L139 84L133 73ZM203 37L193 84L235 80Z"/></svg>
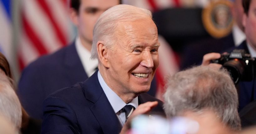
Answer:
<svg viewBox="0 0 256 134"><path fill-rule="evenodd" d="M97 59L90 60L93 26L104 11L118 4L120 0L71 0L71 20L78 30L75 41L22 72L18 96L31 117L42 118L42 104L50 93L83 82L97 70Z"/></svg>

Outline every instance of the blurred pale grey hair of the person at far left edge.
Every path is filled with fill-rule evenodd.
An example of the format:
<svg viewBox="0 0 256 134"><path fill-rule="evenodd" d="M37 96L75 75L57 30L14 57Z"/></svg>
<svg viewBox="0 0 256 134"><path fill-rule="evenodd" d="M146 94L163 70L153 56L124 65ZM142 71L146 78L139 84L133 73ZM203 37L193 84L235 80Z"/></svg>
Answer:
<svg viewBox="0 0 256 134"><path fill-rule="evenodd" d="M21 104L9 80L3 75L0 76L0 114L7 118L15 129L21 128Z"/></svg>

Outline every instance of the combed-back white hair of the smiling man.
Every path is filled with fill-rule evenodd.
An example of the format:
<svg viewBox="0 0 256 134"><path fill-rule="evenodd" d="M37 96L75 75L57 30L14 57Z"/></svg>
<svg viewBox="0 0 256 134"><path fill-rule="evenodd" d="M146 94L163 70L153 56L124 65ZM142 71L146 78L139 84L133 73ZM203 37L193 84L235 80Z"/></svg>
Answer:
<svg viewBox="0 0 256 134"><path fill-rule="evenodd" d="M116 5L103 12L93 29L91 58L96 59L98 57L98 41L104 41L104 45L108 48L115 44L117 39L114 33L118 22L132 22L144 18L152 19L152 13L147 9L131 5Z"/></svg>

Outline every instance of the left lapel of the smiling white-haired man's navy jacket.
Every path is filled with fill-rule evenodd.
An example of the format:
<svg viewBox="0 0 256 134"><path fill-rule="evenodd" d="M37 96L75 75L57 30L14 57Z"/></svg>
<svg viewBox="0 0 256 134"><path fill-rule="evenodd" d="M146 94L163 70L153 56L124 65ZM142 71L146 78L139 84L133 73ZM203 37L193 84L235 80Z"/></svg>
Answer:
<svg viewBox="0 0 256 134"><path fill-rule="evenodd" d="M103 92L102 87L98 81L96 71L89 79L84 82L84 92L86 99L94 103L90 109L95 118L99 122L104 133L119 133L121 131L121 124L115 114L107 96Z"/></svg>

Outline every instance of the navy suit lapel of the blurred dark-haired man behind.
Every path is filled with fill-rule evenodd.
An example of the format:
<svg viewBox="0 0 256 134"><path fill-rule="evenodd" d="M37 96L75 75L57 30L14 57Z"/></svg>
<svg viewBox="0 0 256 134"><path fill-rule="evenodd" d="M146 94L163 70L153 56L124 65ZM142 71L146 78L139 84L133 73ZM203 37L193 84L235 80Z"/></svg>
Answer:
<svg viewBox="0 0 256 134"><path fill-rule="evenodd" d="M76 51L75 42L67 47L64 55L64 66L71 84L83 82L88 78Z"/></svg>

